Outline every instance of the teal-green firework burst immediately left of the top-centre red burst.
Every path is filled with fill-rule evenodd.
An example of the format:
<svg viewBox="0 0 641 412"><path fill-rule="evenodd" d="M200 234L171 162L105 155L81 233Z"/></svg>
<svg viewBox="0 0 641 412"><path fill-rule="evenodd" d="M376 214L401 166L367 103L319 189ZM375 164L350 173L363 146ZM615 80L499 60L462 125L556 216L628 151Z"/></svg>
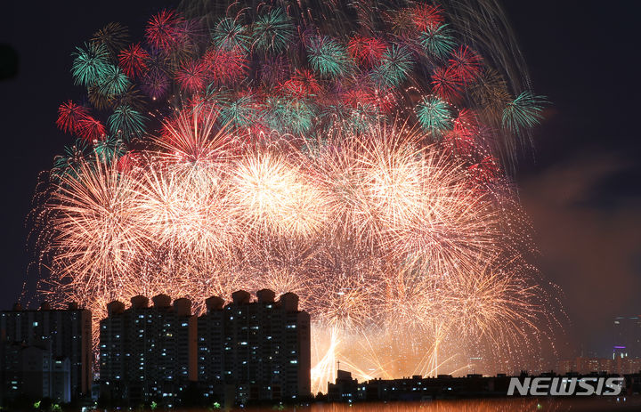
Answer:
<svg viewBox="0 0 641 412"><path fill-rule="evenodd" d="M310 38L307 60L312 69L324 77L345 75L352 62L345 46L329 36Z"/></svg>

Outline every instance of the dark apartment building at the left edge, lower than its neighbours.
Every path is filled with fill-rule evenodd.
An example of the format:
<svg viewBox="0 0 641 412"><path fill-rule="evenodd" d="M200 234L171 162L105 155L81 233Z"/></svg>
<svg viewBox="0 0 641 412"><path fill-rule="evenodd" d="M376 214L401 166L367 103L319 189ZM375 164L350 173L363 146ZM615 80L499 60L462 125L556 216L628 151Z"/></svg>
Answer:
<svg viewBox="0 0 641 412"><path fill-rule="evenodd" d="M91 311L70 303L66 310L0 312L0 382L4 403L18 395L69 402L92 384Z"/></svg>

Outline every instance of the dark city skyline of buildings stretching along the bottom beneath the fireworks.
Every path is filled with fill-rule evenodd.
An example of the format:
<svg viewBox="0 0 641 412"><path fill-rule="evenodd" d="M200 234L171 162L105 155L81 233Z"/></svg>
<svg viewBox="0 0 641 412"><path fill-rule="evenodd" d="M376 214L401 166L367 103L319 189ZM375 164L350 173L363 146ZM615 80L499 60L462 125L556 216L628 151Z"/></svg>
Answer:
<svg viewBox="0 0 641 412"><path fill-rule="evenodd" d="M82 304L69 303L61 310L54 310L47 303L37 310L15 304L12 311L0 311L0 378L7 388L4 400L15 400L15 392L20 390L34 399L50 396L63 402L89 401L90 387L93 399L102 405L154 402L171 408L186 405L185 402L195 406L199 402L229 405L311 399L310 318L298 311L298 296L286 293L276 300L271 290L259 290L256 297L239 290L232 294L230 302L218 296L206 301L207 312L198 318L191 311L190 300L177 298L172 303L167 295L151 299L134 296L128 308L118 301L109 303L109 316L100 322L100 359L98 368L93 370L93 386L91 318ZM625 320L629 324L618 330ZM552 367L507 374L472 371L364 379L358 384L350 366L340 368L338 363L336 384L330 381L329 392L319 392L316 400L493 397L504 394L515 376L522 380L527 376L565 380L624 376L624 390L632 394L637 391L641 370L636 345L641 335L638 323L638 317L613 319L611 342L628 346L613 345L615 352L610 359L581 355L558 359ZM43 363L37 367L39 361ZM34 368L36 375L23 375L25 370L33 374ZM42 368L43 376L51 373L42 381L42 395L37 389L38 368ZM132 374L134 369L140 370ZM225 377L228 374L229 378ZM196 383L197 387L191 386ZM233 391L230 385L235 388ZM190 393L191 398L185 398L183 391L189 391L184 394ZM79 395L83 397L78 398Z"/></svg>

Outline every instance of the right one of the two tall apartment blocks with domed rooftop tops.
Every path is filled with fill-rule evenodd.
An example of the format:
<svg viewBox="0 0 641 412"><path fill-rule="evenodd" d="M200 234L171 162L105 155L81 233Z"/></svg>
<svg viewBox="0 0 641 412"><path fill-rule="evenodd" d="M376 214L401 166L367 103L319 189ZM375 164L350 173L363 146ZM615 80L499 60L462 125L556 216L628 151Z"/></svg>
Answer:
<svg viewBox="0 0 641 412"><path fill-rule="evenodd" d="M271 290L257 301L240 290L232 302L207 299L199 317L199 386L208 398L234 393L235 401L296 400L310 396L310 316L298 296L278 302ZM228 395L229 396L229 395Z"/></svg>

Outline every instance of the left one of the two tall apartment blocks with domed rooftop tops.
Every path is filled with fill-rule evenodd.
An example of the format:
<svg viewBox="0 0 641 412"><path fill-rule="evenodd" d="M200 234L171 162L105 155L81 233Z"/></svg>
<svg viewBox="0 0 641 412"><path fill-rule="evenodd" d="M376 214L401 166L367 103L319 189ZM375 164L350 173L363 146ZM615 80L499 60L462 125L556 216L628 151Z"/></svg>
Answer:
<svg viewBox="0 0 641 412"><path fill-rule="evenodd" d="M196 381L196 317L191 301L138 295L115 301L100 322L101 396L120 404L173 406Z"/></svg>

